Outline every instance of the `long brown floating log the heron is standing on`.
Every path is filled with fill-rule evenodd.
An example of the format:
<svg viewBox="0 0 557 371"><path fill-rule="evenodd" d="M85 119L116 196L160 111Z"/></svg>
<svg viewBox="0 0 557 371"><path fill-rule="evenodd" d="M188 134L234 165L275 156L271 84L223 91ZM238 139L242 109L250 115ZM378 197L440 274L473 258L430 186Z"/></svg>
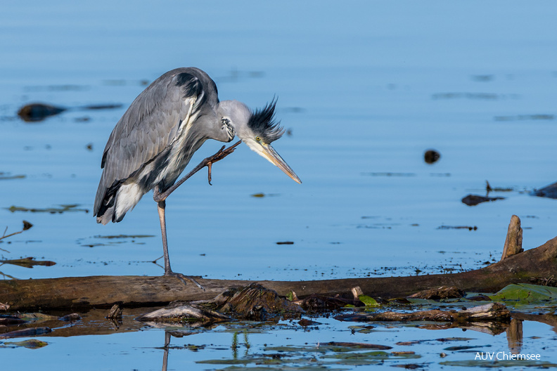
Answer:
<svg viewBox="0 0 557 371"><path fill-rule="evenodd" d="M510 228L515 230L515 228ZM510 239L510 237L508 237ZM205 291L184 285L177 278L143 276L92 276L41 280L4 280L0 282L0 302L11 310L53 308L110 308L160 306L171 301L196 301L215 298L230 287L245 287L258 282L286 297L295 292L303 299L312 294L324 297L352 297L359 286L370 297L407 297L440 286L458 287L466 292L497 292L511 283L546 281L557 272L557 237L544 245L507 256L497 263L475 271L443 275L414 275L391 278L346 278L314 281L248 281L199 279Z"/></svg>

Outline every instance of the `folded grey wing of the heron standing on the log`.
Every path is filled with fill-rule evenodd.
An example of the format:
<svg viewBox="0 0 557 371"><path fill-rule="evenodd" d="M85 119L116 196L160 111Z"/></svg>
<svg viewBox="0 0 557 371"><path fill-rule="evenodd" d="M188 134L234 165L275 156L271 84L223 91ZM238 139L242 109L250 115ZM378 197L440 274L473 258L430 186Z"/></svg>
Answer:
<svg viewBox="0 0 557 371"><path fill-rule="evenodd" d="M181 70L191 69L167 72L139 94L110 134L101 162L104 170L95 198L95 214L107 197L107 190L117 188L171 145L181 124L188 122L207 96L216 105L216 93L212 97L204 91L200 78Z"/></svg>

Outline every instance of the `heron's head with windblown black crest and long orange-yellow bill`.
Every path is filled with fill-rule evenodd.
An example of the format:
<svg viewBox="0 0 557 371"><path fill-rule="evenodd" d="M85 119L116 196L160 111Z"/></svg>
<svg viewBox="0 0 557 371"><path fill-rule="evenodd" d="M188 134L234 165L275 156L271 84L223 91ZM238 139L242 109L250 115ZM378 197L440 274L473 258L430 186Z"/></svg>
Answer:
<svg viewBox="0 0 557 371"><path fill-rule="evenodd" d="M238 100L223 100L219 103L218 114L223 122L233 126L236 136L251 150L275 164L297 183L302 183L293 169L271 147L271 143L284 133L278 122L274 122L275 105L276 101L271 101L262 110L253 112Z"/></svg>

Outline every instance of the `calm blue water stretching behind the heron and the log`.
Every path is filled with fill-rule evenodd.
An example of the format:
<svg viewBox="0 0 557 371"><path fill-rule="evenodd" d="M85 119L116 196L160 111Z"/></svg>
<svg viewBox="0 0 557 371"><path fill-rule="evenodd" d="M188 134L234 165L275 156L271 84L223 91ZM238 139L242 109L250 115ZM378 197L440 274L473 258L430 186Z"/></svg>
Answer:
<svg viewBox="0 0 557 371"><path fill-rule="evenodd" d="M525 248L556 235L556 201L527 193L556 181L551 1L2 8L0 172L25 176L0 180L2 208L91 211L104 145L142 82L197 66L222 100L258 108L278 97L277 117L291 135L274 147L303 183L244 145L215 164L213 186L204 172L191 178L167 200L175 271L276 280L437 273L499 259L512 214L522 219ZM20 121L16 112L32 102L122 108ZM207 142L191 164L221 145ZM423 161L430 148L441 154L435 164ZM485 195L486 180L514 190L492 194L506 200L461 203ZM23 219L34 227L1 243L1 256L56 265L0 267L15 278L162 274L151 263L162 255L151 195L110 226L91 212L0 209L7 233ZM153 237L98 237L106 235Z"/></svg>

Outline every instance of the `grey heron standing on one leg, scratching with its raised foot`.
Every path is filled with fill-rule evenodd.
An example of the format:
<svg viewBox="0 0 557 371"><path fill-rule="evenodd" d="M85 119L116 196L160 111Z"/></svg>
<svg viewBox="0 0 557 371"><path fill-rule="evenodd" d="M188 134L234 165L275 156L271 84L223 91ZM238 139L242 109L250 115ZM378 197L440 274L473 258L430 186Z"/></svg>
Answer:
<svg viewBox="0 0 557 371"><path fill-rule="evenodd" d="M193 153L210 138L230 142L236 135L250 149L301 183L271 147L271 142L283 134L283 129L274 122L275 105L276 101L271 100L261 110L252 111L237 100L219 102L215 82L195 67L162 74L132 102L108 138L94 204L97 223L122 221L143 195L154 190L165 275L176 276L182 282L188 278L198 285L193 278L174 273L170 268L165 200L183 183L184 179L176 181ZM216 162L221 157L217 154L213 160ZM208 162L209 170L211 164Z"/></svg>

